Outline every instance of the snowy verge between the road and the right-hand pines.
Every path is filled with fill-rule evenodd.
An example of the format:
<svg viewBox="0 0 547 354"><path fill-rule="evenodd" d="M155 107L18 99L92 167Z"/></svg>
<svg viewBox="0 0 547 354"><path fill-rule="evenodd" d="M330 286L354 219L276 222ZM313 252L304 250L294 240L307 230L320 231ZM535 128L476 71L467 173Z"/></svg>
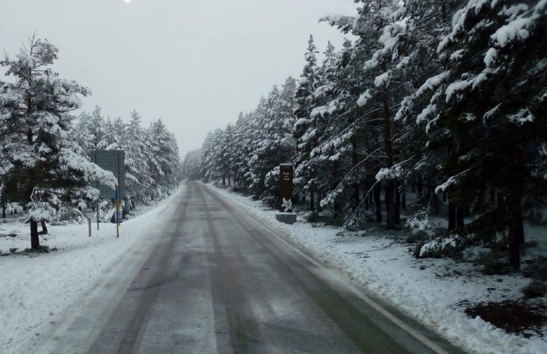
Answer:
<svg viewBox="0 0 547 354"><path fill-rule="evenodd" d="M225 189L216 190L465 351L547 352L547 339L508 334L480 317L468 317L462 309L469 302L522 298L520 289L530 279L520 275L486 276L470 264L450 259L416 259L412 247L395 243L377 231L338 236L339 229L315 227L300 218L294 225L282 224L275 220L276 210L260 201Z"/></svg>

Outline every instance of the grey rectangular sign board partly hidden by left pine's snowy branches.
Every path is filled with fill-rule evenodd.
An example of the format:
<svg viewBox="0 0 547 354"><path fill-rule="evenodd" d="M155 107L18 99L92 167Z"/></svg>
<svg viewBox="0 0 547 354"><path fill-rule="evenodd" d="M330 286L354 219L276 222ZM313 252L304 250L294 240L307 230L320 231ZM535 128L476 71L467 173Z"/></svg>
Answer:
<svg viewBox="0 0 547 354"><path fill-rule="evenodd" d="M110 171L118 179L119 198L125 197L125 151L124 150L94 150L91 151L91 162L100 168ZM116 198L115 190L94 182L93 186L99 190L99 198Z"/></svg>

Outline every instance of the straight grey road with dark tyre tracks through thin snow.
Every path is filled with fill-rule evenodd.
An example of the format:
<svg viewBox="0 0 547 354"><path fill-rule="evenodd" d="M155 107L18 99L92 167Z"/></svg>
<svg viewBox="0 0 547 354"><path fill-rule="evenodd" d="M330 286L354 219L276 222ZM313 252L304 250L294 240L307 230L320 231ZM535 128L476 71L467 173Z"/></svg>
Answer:
<svg viewBox="0 0 547 354"><path fill-rule="evenodd" d="M341 272L211 186L187 182L172 210L146 261L104 286L115 294L103 296L108 305L101 296L86 304L101 314L84 311L51 351L459 352L396 310L370 306Z"/></svg>

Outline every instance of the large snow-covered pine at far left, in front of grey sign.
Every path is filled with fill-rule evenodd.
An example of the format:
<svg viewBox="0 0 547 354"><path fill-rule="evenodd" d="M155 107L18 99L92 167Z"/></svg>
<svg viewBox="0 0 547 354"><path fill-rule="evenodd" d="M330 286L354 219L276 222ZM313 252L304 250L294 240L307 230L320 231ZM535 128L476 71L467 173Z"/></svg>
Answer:
<svg viewBox="0 0 547 354"><path fill-rule="evenodd" d="M58 52L34 35L15 59L0 61L15 81L0 88L0 174L8 198L28 208L33 249L39 248L38 221L49 220L61 203L85 207L97 198L91 181L112 188L115 183L68 134L70 112L81 105L78 95L90 92L51 70Z"/></svg>

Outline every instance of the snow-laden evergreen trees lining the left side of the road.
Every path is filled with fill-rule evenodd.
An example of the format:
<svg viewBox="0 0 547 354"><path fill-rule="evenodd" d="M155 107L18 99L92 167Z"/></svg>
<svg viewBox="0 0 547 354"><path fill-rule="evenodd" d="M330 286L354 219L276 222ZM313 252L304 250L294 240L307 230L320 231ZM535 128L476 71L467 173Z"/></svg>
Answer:
<svg viewBox="0 0 547 354"><path fill-rule="evenodd" d="M38 222L44 229L62 205L86 208L98 198L94 181L114 189L114 175L90 162L90 151L126 151L130 202L151 195L154 175L181 175L177 142L161 121L143 129L137 112L125 124L121 118L104 119L99 107L76 119L72 112L91 92L51 69L58 52L35 35L15 58L6 54L0 61L10 77L0 82L1 201L26 210L35 249Z"/></svg>

